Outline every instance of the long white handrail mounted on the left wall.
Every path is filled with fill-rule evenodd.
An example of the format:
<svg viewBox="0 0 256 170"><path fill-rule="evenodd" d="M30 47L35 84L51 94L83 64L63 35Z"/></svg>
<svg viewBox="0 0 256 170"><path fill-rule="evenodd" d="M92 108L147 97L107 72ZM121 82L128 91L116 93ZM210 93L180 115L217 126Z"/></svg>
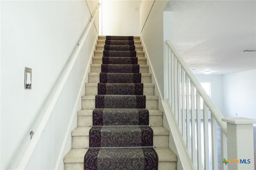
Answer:
<svg viewBox="0 0 256 170"><path fill-rule="evenodd" d="M54 95L53 95L53 97L52 97L52 99L50 101L50 104L48 105L48 107L47 107L47 109L46 109L46 111L44 113L44 116L42 117L42 119L41 119L37 129L35 130L34 135L31 138L31 140L30 140L30 142L28 144L28 147L26 148L26 151L24 152L24 154L23 154L23 156L22 156L22 158L21 158L21 160L20 160L20 162L19 162L19 164L18 164L16 169L23 170L23 169L26 168L26 166L27 166L27 164L28 164L28 162L29 162L33 152L34 152L34 149L36 148L36 145L38 144L38 141L39 141L39 139L40 139L40 137L42 135L42 132L44 131L44 128L45 128L45 126L46 126L46 124L47 124L47 122L48 122L48 120L49 120L49 118L50 118L50 116L52 114L52 111L53 111L53 109L54 109L54 107L55 107L55 105L56 105L56 103L58 101L60 93L62 92L62 89L63 89L63 87L64 87L64 85L65 85L65 83L66 83L66 81L68 79L68 76L70 75L70 72L72 71L74 63L76 62L76 59L77 59L77 57L78 57L78 55L79 55L79 53L80 53L80 51L82 49L84 41L86 40L86 37L89 34L89 30L92 27L92 24L93 24L94 19L96 17L96 13L98 12L98 10L100 8L100 5L101 4L98 4L98 6L96 8L96 12L94 13L93 18L90 21L90 24L88 25L84 35L82 36L82 40L80 41L80 43L78 43L79 44L78 48L76 49L76 52L72 56L72 59L71 59L69 65L68 65L68 67L67 67L67 69L66 69L66 71L64 73L64 76L62 77L62 79L60 81L60 84L58 85L58 87L57 87L57 89L56 89L56 91L55 91L55 93L54 93Z"/></svg>

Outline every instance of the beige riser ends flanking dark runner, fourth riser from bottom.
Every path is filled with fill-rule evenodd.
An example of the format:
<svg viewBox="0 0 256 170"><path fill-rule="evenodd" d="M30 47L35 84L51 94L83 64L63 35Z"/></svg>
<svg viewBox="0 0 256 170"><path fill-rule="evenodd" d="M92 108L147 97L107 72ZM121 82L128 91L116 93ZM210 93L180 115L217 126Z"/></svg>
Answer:
<svg viewBox="0 0 256 170"><path fill-rule="evenodd" d="M94 109L94 99L82 99L82 109ZM146 109L158 109L158 99L148 100L146 99Z"/></svg>

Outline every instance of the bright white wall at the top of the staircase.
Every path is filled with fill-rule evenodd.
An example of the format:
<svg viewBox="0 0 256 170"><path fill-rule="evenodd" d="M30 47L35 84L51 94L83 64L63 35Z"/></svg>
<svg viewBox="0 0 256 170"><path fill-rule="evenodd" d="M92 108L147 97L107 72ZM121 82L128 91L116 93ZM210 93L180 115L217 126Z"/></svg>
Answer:
<svg viewBox="0 0 256 170"><path fill-rule="evenodd" d="M102 35L140 36L140 0L102 0Z"/></svg>

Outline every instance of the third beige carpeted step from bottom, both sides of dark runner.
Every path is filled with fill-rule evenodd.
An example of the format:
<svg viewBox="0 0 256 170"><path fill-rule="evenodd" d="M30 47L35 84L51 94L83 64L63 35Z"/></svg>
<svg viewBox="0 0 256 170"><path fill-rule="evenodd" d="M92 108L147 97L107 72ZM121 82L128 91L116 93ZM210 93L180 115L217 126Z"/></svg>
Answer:
<svg viewBox="0 0 256 170"><path fill-rule="evenodd" d="M89 127L92 125L92 111L93 109L83 109L77 112L77 126ZM152 127L163 126L163 112L160 110L150 109L149 125Z"/></svg>

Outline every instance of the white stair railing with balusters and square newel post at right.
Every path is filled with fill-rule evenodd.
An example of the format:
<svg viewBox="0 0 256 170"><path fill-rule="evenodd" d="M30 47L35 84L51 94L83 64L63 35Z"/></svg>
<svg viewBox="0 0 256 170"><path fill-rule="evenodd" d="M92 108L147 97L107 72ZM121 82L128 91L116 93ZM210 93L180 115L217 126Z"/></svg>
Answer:
<svg viewBox="0 0 256 170"><path fill-rule="evenodd" d="M252 123L255 123L255 120L234 118L236 120L230 121L230 118L224 118L172 43L167 40L166 44L168 52L164 63L164 103L167 103L165 105L168 105L173 113L173 119L188 151L190 161L194 169L198 170L227 169L228 166L222 163L224 158L239 159L236 156L241 156L234 154L232 151L234 148L228 145L236 143L235 150L239 150L240 145L244 147L244 143L239 144L238 140L234 141L234 138L229 137L239 136L241 131L230 134L229 130L234 131L234 127L232 129L228 126L227 129L227 124L238 125L242 120L241 124L250 124L252 129ZM249 140L253 141L253 138ZM249 143L253 143L251 141ZM253 144L250 144L250 147L253 148ZM247 149L250 153L252 150L250 162L253 164L253 149L248 150L244 147L241 150L243 149ZM254 168L252 164L250 166ZM229 168L233 165L229 164Z"/></svg>

